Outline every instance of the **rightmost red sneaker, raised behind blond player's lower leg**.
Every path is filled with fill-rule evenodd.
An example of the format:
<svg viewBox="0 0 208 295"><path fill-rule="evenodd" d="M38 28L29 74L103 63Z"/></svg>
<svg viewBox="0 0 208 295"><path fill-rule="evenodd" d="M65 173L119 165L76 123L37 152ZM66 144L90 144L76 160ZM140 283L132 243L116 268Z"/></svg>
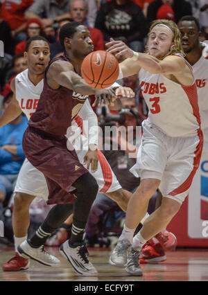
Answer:
<svg viewBox="0 0 208 295"><path fill-rule="evenodd" d="M177 247L177 238L173 235L173 233L166 231L166 229L157 233L155 238L157 238L160 244L162 244L164 251L173 251Z"/></svg>

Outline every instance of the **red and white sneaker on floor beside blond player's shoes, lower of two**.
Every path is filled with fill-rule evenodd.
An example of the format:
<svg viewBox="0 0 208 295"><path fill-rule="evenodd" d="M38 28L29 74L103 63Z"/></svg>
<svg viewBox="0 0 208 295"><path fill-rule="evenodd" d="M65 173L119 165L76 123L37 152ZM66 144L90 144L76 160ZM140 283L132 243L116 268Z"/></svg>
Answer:
<svg viewBox="0 0 208 295"><path fill-rule="evenodd" d="M139 263L158 263L166 260L162 245L155 238L150 239L141 249Z"/></svg>

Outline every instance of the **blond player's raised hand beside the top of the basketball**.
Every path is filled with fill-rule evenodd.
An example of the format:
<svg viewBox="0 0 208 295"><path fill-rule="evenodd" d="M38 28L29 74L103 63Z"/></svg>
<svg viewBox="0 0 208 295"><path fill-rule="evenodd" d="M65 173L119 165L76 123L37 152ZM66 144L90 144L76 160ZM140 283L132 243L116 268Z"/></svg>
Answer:
<svg viewBox="0 0 208 295"><path fill-rule="evenodd" d="M115 55L117 59L121 57L131 58L134 56L132 49L121 40L116 41L113 38L110 38L110 42L107 42L105 46L107 47L107 52Z"/></svg>

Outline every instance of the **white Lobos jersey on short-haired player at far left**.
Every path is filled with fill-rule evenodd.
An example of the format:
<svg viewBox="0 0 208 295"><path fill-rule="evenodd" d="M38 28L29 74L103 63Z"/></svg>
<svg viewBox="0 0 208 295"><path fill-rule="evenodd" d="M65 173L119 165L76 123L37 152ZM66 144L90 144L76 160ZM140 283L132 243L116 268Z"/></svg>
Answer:
<svg viewBox="0 0 208 295"><path fill-rule="evenodd" d="M36 86L31 82L28 78L28 69L19 73L15 78L16 98L28 120L37 108L43 85L43 79Z"/></svg>

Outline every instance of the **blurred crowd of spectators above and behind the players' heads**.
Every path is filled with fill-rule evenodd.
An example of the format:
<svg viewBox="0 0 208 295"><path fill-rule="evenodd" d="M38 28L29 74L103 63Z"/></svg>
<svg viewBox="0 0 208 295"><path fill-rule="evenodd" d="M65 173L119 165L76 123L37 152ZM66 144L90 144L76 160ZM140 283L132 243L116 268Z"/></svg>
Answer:
<svg viewBox="0 0 208 295"><path fill-rule="evenodd" d="M15 74L11 74L12 59L24 53L28 38L46 37L51 58L62 53L58 33L67 21L80 21L89 28L94 51L103 50L110 37L123 40L135 51L144 51L154 19L177 22L184 15L195 15L207 39L207 7L207 0L0 0L0 39L4 44L0 94L5 95L4 87Z"/></svg>

